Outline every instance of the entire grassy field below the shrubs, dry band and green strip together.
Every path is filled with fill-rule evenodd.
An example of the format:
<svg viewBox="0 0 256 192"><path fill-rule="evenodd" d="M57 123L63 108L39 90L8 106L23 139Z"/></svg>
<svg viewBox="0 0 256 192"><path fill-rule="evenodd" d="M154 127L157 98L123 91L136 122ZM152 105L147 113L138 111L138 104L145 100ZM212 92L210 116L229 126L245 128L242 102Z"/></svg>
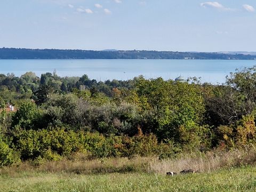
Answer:
<svg viewBox="0 0 256 192"><path fill-rule="evenodd" d="M0 169L0 191L255 191L256 167L233 168L255 162L255 148L164 160L156 157L88 160L77 154L60 162L39 166L25 162ZM165 175L183 169L204 173Z"/></svg>

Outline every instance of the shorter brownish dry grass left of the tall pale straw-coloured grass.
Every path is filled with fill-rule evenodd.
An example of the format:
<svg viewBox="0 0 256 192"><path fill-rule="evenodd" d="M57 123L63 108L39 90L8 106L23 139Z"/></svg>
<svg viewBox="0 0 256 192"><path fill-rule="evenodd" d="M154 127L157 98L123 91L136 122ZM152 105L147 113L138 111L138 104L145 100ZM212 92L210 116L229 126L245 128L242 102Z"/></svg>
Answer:
<svg viewBox="0 0 256 192"><path fill-rule="evenodd" d="M34 166L33 163L25 162L19 166L0 169L0 174L17 175L19 172L51 172L51 173L75 173L75 174L106 174L106 173L128 173L147 172L149 162L154 157L135 157L94 159L81 161L81 159L62 160L59 162L45 162L42 165Z"/></svg>

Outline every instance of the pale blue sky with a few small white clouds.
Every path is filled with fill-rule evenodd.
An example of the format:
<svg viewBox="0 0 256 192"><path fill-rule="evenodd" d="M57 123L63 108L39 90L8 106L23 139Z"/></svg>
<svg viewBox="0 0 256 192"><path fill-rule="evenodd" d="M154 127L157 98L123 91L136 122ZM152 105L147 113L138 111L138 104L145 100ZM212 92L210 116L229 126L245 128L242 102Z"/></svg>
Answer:
<svg viewBox="0 0 256 192"><path fill-rule="evenodd" d="M0 47L256 51L255 10L255 0L1 0Z"/></svg>

